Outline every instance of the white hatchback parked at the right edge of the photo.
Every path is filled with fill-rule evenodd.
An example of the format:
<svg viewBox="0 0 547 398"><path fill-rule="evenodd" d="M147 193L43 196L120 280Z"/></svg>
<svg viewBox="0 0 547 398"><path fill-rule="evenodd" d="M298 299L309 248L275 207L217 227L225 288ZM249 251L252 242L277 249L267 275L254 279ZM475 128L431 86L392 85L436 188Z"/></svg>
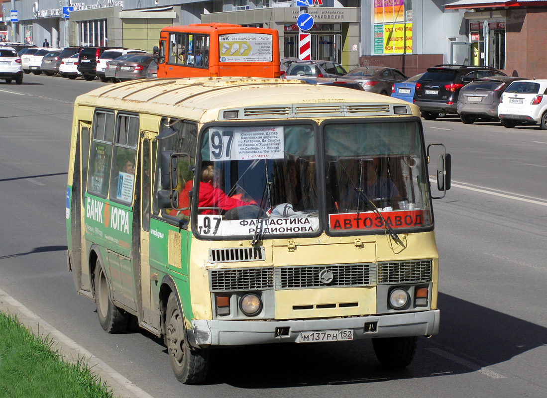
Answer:
<svg viewBox="0 0 547 398"><path fill-rule="evenodd" d="M498 116L508 128L539 124L547 130L547 79L513 81L502 94Z"/></svg>

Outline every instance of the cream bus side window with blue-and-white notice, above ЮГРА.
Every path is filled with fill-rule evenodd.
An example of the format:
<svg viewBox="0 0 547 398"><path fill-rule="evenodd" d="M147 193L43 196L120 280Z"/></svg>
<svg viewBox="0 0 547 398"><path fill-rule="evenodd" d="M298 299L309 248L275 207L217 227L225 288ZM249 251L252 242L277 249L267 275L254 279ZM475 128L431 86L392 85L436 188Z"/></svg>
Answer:
<svg viewBox="0 0 547 398"><path fill-rule="evenodd" d="M131 203L135 186L139 122L137 116L118 114L116 143L110 174L110 199Z"/></svg>

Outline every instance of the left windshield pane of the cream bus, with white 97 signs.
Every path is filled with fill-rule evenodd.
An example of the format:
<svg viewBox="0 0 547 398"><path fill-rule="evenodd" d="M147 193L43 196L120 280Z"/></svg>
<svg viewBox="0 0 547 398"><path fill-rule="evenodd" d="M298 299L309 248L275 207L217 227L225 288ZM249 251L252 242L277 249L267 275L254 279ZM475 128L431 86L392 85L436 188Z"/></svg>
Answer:
<svg viewBox="0 0 547 398"><path fill-rule="evenodd" d="M319 230L312 125L216 126L203 134L197 232L205 236ZM195 197L195 196L194 196Z"/></svg>

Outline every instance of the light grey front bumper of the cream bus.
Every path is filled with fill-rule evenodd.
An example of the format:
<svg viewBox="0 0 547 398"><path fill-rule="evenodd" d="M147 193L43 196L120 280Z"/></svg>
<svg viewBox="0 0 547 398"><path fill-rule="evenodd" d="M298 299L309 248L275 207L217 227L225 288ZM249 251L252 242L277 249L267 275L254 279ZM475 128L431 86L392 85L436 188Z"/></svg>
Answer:
<svg viewBox="0 0 547 398"><path fill-rule="evenodd" d="M430 336L439 332L438 309L354 318L307 320L193 320L188 340L197 347L298 343L304 332L353 330L353 339Z"/></svg>

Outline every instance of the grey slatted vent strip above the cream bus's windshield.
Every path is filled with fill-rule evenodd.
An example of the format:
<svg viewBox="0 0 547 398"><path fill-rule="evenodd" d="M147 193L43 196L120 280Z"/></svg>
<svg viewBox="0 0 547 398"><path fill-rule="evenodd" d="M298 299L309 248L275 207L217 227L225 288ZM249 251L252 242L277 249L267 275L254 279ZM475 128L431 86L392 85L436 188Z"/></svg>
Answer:
<svg viewBox="0 0 547 398"><path fill-rule="evenodd" d="M406 105L386 103L283 104L270 107L256 106L223 109L219 112L219 120L321 118L324 116L386 116L395 114L411 115L412 111Z"/></svg>

